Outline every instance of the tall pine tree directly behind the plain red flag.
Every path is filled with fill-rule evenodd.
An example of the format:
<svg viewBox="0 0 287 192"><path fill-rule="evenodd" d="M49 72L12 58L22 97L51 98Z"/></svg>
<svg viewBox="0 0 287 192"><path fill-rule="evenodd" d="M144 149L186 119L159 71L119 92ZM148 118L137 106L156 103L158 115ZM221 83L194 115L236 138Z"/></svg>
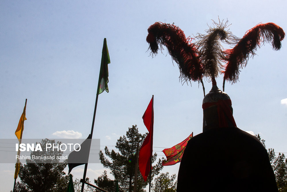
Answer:
<svg viewBox="0 0 287 192"><path fill-rule="evenodd" d="M115 180L119 182L119 188L122 191L133 191L134 178L135 178L135 163L136 163L136 150L137 143L141 146L147 133L140 134L137 126L132 126L127 131L127 134L121 136L116 143L116 148L119 152L114 150L109 151L108 147L105 147L105 155L112 160L110 162L104 153L100 151L100 160L105 168L109 168L111 173L115 177ZM157 154L152 156L152 163L156 161ZM159 159L157 164L152 167L152 178L154 175L159 174L162 169L162 162ZM144 188L148 185L149 178L145 182L137 168L137 191L144 191ZM99 183L98 183L99 184Z"/></svg>

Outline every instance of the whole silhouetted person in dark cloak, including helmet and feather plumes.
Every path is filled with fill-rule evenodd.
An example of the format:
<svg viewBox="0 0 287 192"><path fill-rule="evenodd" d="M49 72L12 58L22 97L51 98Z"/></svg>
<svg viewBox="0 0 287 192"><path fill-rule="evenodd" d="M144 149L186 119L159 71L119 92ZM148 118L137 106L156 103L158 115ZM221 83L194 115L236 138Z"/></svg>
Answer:
<svg viewBox="0 0 287 192"><path fill-rule="evenodd" d="M203 87L203 133L191 138L178 173L177 192L187 191L278 191L266 149L251 134L237 128L225 81L236 83L241 68L265 42L281 48L285 33L274 23L258 24L239 39L227 22L216 23L197 42L185 37L174 24L156 22L146 38L151 54L165 46L178 64L182 82L198 81ZM224 50L221 42L234 45ZM223 91L216 84L223 73ZM212 82L205 96L203 79Z"/></svg>

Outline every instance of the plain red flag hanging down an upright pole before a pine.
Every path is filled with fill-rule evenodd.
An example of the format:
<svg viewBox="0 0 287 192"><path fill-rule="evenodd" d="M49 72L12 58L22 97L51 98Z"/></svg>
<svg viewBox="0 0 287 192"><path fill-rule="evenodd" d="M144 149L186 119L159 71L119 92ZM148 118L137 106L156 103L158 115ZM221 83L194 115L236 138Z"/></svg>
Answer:
<svg viewBox="0 0 287 192"><path fill-rule="evenodd" d="M148 108L144 112L143 120L149 133L139 150L139 171L144 181L146 181L151 170L152 138L154 133L154 96L152 96L150 104L148 104Z"/></svg>

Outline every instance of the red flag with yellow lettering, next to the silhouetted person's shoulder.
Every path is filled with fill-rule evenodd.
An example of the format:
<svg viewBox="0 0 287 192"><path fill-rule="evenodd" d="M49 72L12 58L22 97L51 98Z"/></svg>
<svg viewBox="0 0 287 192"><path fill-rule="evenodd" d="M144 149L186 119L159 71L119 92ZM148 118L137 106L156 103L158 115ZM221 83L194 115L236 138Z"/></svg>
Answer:
<svg viewBox="0 0 287 192"><path fill-rule="evenodd" d="M193 132L181 143L168 148L164 149L162 152L166 156L166 161L162 161L163 166L174 165L181 161L183 152L187 145L187 142L193 137Z"/></svg>

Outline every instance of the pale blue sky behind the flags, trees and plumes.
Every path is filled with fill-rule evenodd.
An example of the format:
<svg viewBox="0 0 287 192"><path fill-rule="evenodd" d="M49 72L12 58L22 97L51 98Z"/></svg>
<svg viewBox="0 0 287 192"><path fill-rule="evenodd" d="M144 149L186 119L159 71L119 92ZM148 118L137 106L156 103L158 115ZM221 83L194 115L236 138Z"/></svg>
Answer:
<svg viewBox="0 0 287 192"><path fill-rule="evenodd" d="M93 138L100 139L101 149L115 149L129 127L137 125L144 134L141 117L154 95L153 150L161 158L164 148L202 132L203 91L197 82L181 84L166 49L150 56L148 27L174 23L186 37L194 37L205 34L219 17L228 19L230 31L241 38L259 23L274 22L286 30L286 5L283 0L0 1L0 139L16 138L26 98L23 138L86 138L106 38L109 93L99 95ZM265 43L256 54L237 83L225 83L225 92L238 128L260 134L275 152L287 152L286 39L281 50ZM220 89L222 81L221 75ZM204 85L207 93L212 85ZM13 189L14 167L15 162L0 164L3 192ZM176 164L162 172L177 174L178 169ZM71 174L81 178L83 170L79 166ZM101 164L89 164L87 176L94 180L104 170Z"/></svg>

